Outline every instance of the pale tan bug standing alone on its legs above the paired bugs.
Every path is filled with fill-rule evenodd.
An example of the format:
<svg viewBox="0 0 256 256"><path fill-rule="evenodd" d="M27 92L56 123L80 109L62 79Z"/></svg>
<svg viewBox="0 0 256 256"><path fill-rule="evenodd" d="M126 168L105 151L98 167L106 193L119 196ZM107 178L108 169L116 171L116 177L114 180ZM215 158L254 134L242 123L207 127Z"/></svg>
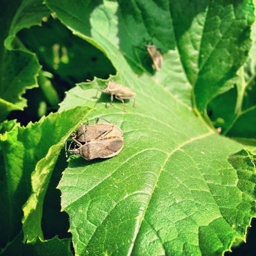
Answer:
<svg viewBox="0 0 256 256"><path fill-rule="evenodd" d="M115 98L117 100L122 101L123 108L124 108L124 100L125 99L133 99L133 107L135 106L134 95L136 95L136 93L134 93L129 87L125 86L124 84L115 83L113 80L106 83L106 85L108 87L104 90L98 90L97 94L98 94L99 91L102 92L102 93L110 94L110 96L111 96L110 104L112 104L113 99L114 99L114 95L115 95ZM97 94L96 94L95 98L97 98ZM124 111L125 111L125 108L124 108Z"/></svg>

